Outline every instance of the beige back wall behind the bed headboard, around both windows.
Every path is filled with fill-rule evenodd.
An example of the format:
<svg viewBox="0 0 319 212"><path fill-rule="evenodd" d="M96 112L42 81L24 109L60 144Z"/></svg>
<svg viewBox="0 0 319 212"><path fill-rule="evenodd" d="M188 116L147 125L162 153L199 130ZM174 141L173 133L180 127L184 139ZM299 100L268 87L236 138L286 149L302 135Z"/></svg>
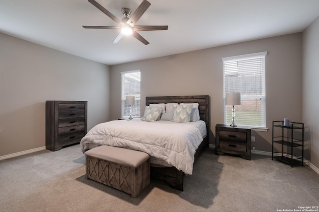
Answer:
<svg viewBox="0 0 319 212"><path fill-rule="evenodd" d="M223 123L223 57L267 51L268 132L253 132L256 150L271 152L272 121L302 121L302 34L290 34L111 67L111 119L121 117L121 71L141 70L141 105L146 96L209 95L211 137ZM144 108L141 108L143 113Z"/></svg>

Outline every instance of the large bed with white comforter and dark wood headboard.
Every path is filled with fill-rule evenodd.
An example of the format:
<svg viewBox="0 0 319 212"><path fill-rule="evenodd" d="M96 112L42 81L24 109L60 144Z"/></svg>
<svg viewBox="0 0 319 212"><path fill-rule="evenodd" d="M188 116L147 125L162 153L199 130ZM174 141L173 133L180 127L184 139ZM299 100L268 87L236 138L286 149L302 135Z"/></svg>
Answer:
<svg viewBox="0 0 319 212"><path fill-rule="evenodd" d="M99 145L147 152L151 155L151 177L164 180L171 188L183 191L184 175L192 174L194 160L208 147L209 96L146 97L147 106L162 103L166 107L172 103L198 103L200 120L182 124L160 119L101 123L81 140L82 152Z"/></svg>

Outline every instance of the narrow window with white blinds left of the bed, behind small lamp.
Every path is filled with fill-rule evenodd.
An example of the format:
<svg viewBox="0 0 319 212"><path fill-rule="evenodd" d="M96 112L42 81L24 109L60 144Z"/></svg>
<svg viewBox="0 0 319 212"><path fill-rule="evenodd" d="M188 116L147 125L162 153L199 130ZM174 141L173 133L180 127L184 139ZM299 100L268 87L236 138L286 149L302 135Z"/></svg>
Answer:
<svg viewBox="0 0 319 212"><path fill-rule="evenodd" d="M130 105L125 104L126 96L135 96L135 105L132 105L132 117L140 117L141 103L141 71L125 71L122 74L122 117L130 116Z"/></svg>

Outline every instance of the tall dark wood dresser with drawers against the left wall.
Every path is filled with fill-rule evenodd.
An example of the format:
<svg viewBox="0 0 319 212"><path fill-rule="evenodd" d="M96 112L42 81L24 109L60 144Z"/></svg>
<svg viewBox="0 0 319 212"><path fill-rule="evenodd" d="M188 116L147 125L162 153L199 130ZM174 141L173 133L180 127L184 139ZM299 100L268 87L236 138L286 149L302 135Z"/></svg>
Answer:
<svg viewBox="0 0 319 212"><path fill-rule="evenodd" d="M45 148L78 143L87 133L87 101L46 101Z"/></svg>

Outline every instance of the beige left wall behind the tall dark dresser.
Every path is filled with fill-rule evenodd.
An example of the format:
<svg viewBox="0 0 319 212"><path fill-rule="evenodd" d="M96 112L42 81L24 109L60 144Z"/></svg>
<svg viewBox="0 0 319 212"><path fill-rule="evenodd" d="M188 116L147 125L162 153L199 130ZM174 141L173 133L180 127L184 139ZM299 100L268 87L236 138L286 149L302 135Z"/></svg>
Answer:
<svg viewBox="0 0 319 212"><path fill-rule="evenodd" d="M109 120L110 67L0 33L0 156L45 146L45 101L88 101Z"/></svg>

